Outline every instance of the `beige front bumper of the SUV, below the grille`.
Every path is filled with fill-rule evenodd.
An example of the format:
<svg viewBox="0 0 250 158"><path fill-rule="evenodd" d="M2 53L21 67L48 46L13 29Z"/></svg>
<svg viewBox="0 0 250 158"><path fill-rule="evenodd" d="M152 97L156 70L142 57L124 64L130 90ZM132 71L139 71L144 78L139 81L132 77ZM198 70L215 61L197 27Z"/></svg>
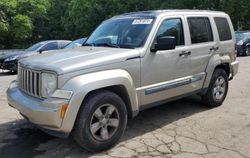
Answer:
<svg viewBox="0 0 250 158"><path fill-rule="evenodd" d="M17 109L27 120L39 127L55 132L60 131L63 119L60 117L61 107L68 104L66 99L38 99L27 95L11 83L7 90L7 99L11 107ZM14 85L14 86L13 86Z"/></svg>

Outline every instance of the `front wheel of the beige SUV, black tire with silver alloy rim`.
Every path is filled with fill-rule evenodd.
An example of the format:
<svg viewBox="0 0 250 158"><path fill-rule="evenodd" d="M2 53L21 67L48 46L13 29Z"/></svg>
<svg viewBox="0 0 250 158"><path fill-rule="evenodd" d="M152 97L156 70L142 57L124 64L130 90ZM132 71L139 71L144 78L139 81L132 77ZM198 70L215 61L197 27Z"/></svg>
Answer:
<svg viewBox="0 0 250 158"><path fill-rule="evenodd" d="M91 152L114 146L127 125L127 109L123 100L113 92L99 91L83 103L73 130L73 137Z"/></svg>

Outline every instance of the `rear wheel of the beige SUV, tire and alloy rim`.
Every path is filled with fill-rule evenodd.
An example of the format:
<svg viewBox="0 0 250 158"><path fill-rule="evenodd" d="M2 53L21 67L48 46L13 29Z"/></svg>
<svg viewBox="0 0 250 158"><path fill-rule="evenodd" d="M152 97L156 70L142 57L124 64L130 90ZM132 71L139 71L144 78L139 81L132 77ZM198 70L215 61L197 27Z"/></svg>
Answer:
<svg viewBox="0 0 250 158"><path fill-rule="evenodd" d="M210 107L218 107L224 102L228 92L228 76L223 69L215 69L208 90L202 101Z"/></svg>

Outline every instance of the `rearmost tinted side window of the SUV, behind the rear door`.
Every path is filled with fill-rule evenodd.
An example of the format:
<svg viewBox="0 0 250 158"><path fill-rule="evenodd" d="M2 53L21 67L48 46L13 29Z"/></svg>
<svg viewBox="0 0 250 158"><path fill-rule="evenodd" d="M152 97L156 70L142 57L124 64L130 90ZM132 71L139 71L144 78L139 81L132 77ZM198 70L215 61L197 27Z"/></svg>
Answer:
<svg viewBox="0 0 250 158"><path fill-rule="evenodd" d="M232 39L231 30L226 18L214 18L219 33L220 41Z"/></svg>

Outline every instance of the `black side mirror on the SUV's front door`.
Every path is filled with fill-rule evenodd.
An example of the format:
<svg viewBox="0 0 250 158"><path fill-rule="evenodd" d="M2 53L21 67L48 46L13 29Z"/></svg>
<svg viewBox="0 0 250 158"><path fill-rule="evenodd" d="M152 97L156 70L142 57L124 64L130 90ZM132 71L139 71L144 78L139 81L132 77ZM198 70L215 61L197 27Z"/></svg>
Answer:
<svg viewBox="0 0 250 158"><path fill-rule="evenodd" d="M175 47L176 41L174 36L163 36L157 39L157 43L151 51L157 52L158 50L173 50Z"/></svg>

